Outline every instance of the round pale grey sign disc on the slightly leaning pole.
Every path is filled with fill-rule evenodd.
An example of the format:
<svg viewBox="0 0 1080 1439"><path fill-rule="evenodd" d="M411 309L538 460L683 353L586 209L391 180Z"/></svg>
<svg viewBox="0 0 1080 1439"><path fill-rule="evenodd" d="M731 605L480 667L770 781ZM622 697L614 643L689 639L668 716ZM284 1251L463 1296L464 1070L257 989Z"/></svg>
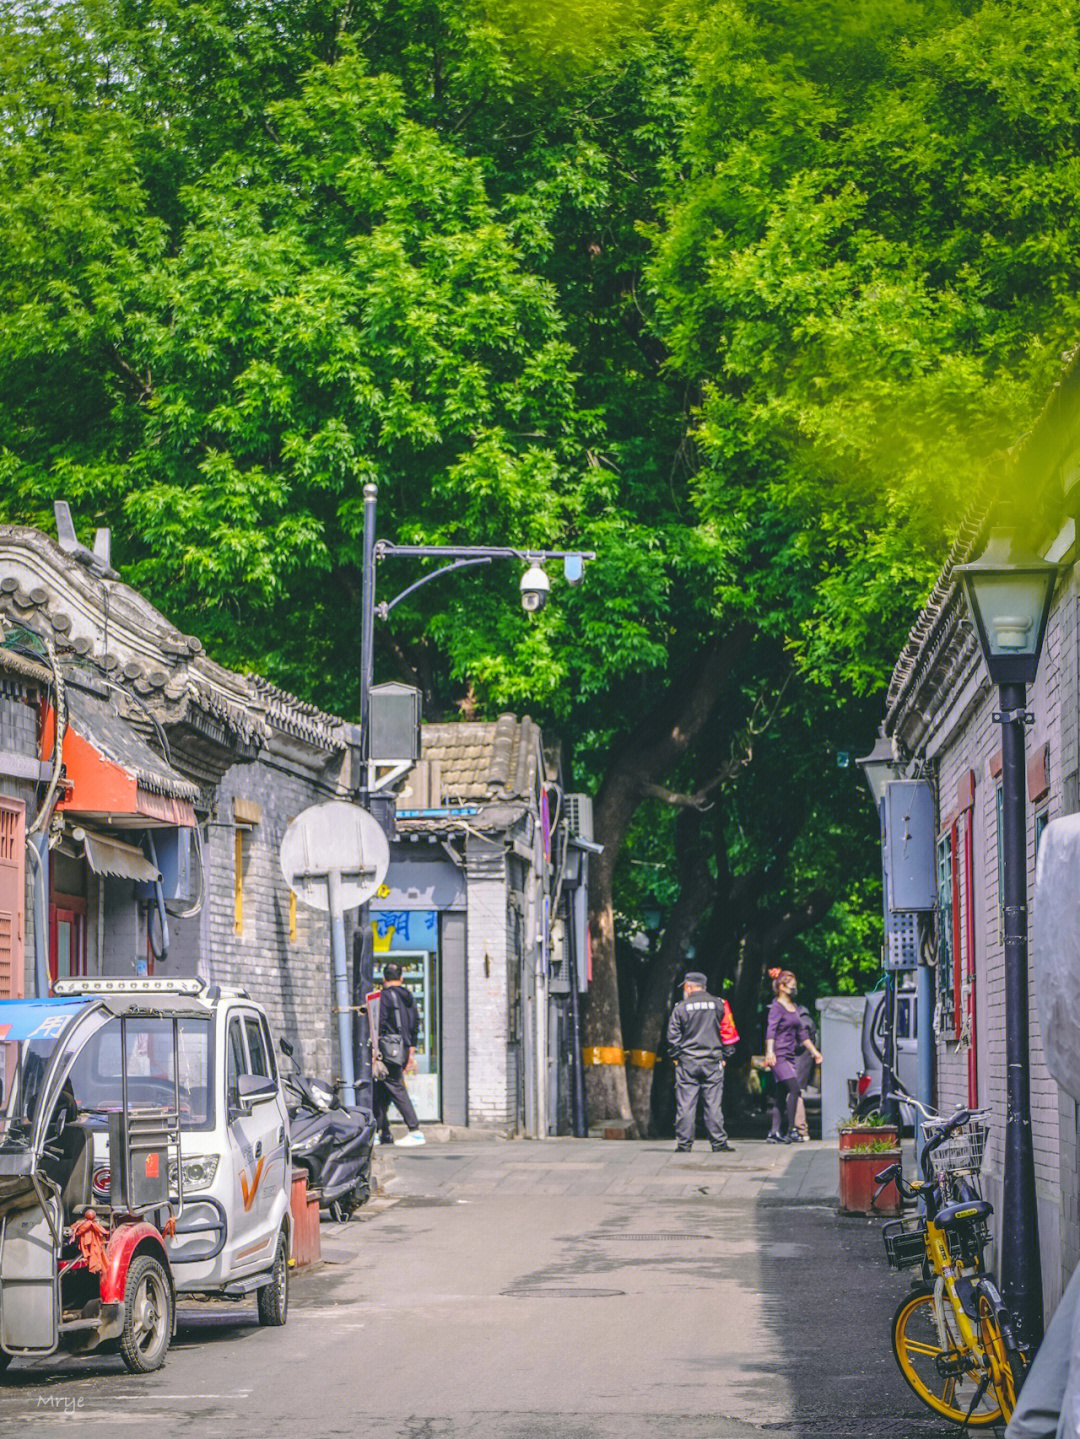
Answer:
<svg viewBox="0 0 1080 1439"><path fill-rule="evenodd" d="M365 809L345 800L312 804L285 830L282 873L296 898L312 909L344 912L370 899L390 868L383 826ZM334 876L334 878L331 878Z"/></svg>

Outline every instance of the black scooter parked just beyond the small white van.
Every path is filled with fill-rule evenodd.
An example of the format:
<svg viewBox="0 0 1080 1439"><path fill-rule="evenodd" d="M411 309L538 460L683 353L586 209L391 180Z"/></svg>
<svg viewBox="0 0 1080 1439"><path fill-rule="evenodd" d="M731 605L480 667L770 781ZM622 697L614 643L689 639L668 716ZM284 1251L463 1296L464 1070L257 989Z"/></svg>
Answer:
<svg viewBox="0 0 1080 1439"><path fill-rule="evenodd" d="M292 1045L282 1039L280 1046L293 1065L292 1073L282 1073L292 1163L308 1171L308 1190L318 1193L321 1210L349 1219L371 1194L375 1118L370 1109L344 1105L325 1079L302 1075Z"/></svg>

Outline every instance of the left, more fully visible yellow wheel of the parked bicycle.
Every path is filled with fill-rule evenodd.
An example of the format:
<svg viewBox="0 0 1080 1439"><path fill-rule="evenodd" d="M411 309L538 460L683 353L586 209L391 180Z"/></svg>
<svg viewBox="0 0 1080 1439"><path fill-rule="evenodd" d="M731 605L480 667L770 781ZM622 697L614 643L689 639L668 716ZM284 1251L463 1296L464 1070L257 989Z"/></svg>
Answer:
<svg viewBox="0 0 1080 1439"><path fill-rule="evenodd" d="M936 1415L956 1425L966 1420L972 1427L998 1423L1001 1420L998 1394L991 1383L987 1383L979 1394L985 1376L976 1356L965 1353L956 1320L948 1307L943 1325L942 1347L933 1294L929 1289L916 1289L907 1295L893 1317L893 1354L900 1373Z"/></svg>

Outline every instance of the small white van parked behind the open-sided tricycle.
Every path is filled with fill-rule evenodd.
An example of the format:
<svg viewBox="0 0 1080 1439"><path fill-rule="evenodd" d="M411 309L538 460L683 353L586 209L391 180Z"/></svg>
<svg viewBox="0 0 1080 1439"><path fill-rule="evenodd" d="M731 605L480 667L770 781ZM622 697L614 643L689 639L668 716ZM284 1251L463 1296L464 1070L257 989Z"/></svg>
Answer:
<svg viewBox="0 0 1080 1439"><path fill-rule="evenodd" d="M170 1174L175 1233L165 1235L177 1292L257 1292L263 1322L285 1322L289 1115L262 1006L243 990L198 979L104 976L59 980L53 989L145 999L145 1014L125 1019L128 1102L175 1105L180 1114L181 1173L174 1160ZM114 1020L70 1072L79 1120L93 1128L92 1183L102 1199L109 1193L108 1111L121 1099L119 1045Z"/></svg>

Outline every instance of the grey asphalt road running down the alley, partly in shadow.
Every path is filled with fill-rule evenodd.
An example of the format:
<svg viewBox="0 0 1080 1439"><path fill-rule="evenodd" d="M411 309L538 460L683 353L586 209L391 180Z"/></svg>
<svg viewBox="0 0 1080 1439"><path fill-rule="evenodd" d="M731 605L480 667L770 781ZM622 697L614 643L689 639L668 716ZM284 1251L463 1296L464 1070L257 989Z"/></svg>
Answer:
<svg viewBox="0 0 1080 1439"><path fill-rule="evenodd" d="M807 1153L807 1151L814 1151ZM161 1371L16 1363L0 1433L364 1439L916 1439L903 1276L841 1220L836 1154L488 1143L394 1156L394 1199L324 1226L285 1330L181 1309Z"/></svg>

